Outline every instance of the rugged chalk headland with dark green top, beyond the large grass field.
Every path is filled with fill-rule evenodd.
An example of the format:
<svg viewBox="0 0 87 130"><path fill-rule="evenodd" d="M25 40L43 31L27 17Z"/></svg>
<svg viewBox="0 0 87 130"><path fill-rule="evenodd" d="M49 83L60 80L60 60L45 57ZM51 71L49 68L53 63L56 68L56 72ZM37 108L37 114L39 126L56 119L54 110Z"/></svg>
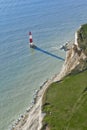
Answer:
<svg viewBox="0 0 87 130"><path fill-rule="evenodd" d="M87 24L75 33L75 42L66 52L66 60L59 74L64 77L87 69ZM55 81L59 80L57 77Z"/></svg>

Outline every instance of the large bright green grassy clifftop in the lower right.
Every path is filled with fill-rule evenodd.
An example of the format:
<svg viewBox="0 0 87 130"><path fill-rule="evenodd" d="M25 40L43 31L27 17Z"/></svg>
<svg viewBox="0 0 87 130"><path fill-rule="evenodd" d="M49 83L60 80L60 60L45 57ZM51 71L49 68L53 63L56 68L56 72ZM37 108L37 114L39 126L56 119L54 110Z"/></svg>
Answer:
<svg viewBox="0 0 87 130"><path fill-rule="evenodd" d="M53 83L43 98L43 128L87 130L87 70Z"/></svg>

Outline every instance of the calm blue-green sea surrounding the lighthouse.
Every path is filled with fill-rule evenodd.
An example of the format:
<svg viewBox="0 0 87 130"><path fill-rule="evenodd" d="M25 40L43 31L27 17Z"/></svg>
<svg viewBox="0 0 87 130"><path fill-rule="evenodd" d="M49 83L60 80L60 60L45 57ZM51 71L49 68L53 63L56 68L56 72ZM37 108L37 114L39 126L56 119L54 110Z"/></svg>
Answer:
<svg viewBox="0 0 87 130"><path fill-rule="evenodd" d="M0 130L32 104L34 93L58 74L75 32L87 23L87 0L0 0ZM29 46L29 31L38 51Z"/></svg>

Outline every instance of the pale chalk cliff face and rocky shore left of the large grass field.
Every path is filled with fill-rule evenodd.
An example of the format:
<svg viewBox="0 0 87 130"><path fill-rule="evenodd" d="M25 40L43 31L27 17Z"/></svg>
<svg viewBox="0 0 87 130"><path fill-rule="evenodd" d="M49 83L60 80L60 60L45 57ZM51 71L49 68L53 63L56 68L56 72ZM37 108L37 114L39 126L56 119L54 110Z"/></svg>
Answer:
<svg viewBox="0 0 87 130"><path fill-rule="evenodd" d="M42 127L42 119L44 114L41 111L42 98L47 87L55 81L57 75L50 80L44 82L40 90L36 91L36 97L34 104L26 110L25 115L21 115L20 118L12 125L11 130L40 130ZM61 77L59 77L60 80Z"/></svg>

